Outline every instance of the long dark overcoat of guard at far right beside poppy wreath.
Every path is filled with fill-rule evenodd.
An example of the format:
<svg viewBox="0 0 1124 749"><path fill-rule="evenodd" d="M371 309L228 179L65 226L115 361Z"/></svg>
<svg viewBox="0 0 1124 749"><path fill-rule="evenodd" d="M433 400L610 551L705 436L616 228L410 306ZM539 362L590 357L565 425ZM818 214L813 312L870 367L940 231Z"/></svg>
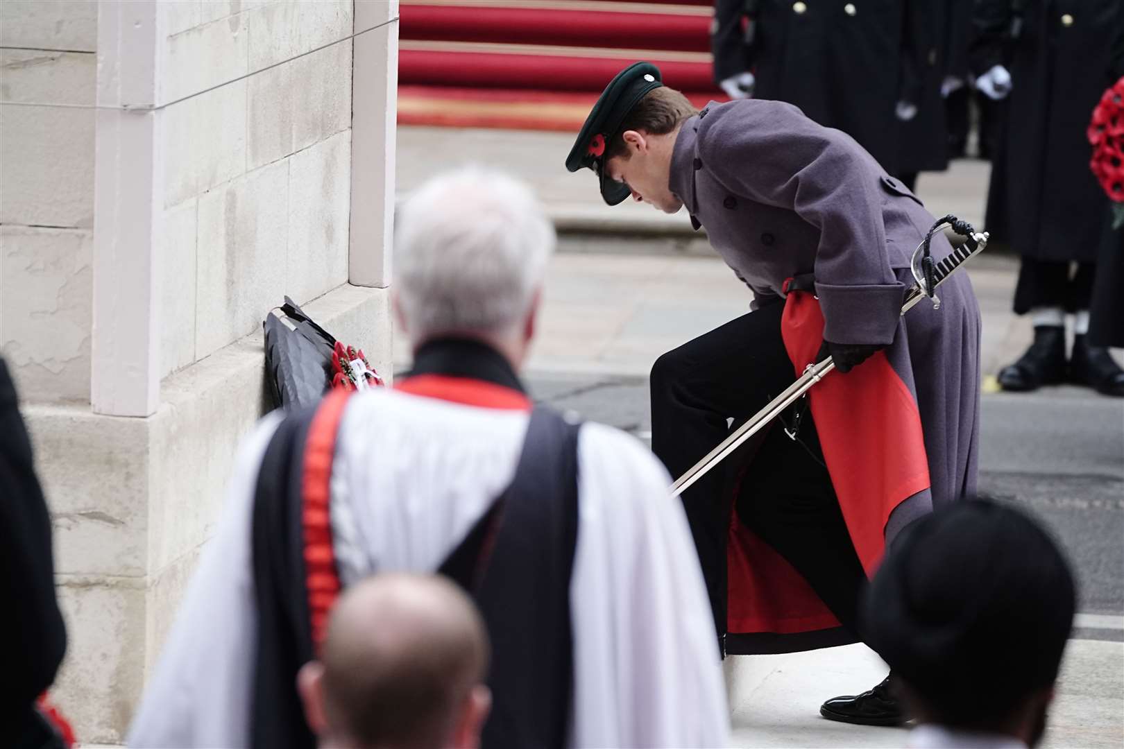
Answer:
<svg viewBox="0 0 1124 749"><path fill-rule="evenodd" d="M1086 130L1104 93L1120 0L1010 0L975 9L972 72L1010 71L992 159L988 230L1026 257L1096 262L1107 198L1089 171Z"/></svg>

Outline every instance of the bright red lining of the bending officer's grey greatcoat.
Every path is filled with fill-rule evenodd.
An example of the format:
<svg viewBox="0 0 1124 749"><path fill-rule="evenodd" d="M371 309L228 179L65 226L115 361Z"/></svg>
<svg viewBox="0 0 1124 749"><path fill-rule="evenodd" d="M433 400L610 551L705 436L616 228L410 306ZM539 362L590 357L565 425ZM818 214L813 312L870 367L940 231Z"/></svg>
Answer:
<svg viewBox="0 0 1124 749"><path fill-rule="evenodd" d="M815 360L823 330L816 298L790 292L781 335L795 376ZM812 389L810 401L843 519L867 575L873 575L890 513L930 486L917 403L883 351L846 375L828 374ZM839 625L799 573L738 522L733 505L726 563L729 632L789 634Z"/></svg>

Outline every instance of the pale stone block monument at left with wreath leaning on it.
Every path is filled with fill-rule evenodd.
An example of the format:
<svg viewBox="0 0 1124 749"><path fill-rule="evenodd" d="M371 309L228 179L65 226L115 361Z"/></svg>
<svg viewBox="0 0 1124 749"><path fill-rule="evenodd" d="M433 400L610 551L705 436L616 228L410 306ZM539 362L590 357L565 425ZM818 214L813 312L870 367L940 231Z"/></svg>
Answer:
<svg viewBox="0 0 1124 749"><path fill-rule="evenodd" d="M0 107L0 350L17 377L54 520L69 647L52 694L83 743L124 740L214 535L236 448L268 408L268 311L288 294L384 374L392 350L389 273L366 270L356 280L355 271L356 258L388 267L386 240L368 230L355 241L352 200L370 218L384 211L380 197L393 194L386 161L393 99L364 100L366 121L390 127L359 128L363 137L353 140L353 48L363 42L312 52L355 30L352 0L153 2L0 2L6 101L92 104L96 91L106 95L107 80L138 64L105 42L99 54L107 28L124 29L118 38L130 44L143 33L155 42L144 47L155 49L154 101L124 103L175 102L275 65L151 113ZM378 4L397 15L396 3ZM151 31L133 24L137 8L156 8ZM371 8L361 3L360 12ZM377 79L369 90L392 92L397 29L378 34L360 47L364 74ZM103 164L116 166L98 161L101 128L118 117L158 118L155 143L134 152L158 163L155 186L128 204L102 190L112 184L101 182ZM365 149L365 168L353 170L353 141ZM354 195L353 171L368 177ZM101 220L105 205L115 217L151 217L151 239L106 243L120 225ZM102 252L144 262L98 265ZM114 376L112 359L105 372L91 355L107 350L94 310L105 311L99 299L112 307L138 295L93 268L132 271L148 259L153 303L143 309L158 335L144 350L156 351L158 402L140 415L110 415L129 411L99 408L91 387L98 373ZM102 334L116 330L99 320Z"/></svg>

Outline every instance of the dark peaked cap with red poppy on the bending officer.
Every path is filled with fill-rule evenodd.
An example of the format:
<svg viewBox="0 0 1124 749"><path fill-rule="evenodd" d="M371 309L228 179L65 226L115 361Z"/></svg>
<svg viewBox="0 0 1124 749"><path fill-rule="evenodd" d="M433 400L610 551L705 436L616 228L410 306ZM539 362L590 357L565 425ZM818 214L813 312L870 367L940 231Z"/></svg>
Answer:
<svg viewBox="0 0 1124 749"><path fill-rule="evenodd" d="M659 89L660 68L652 63L633 63L616 74L605 86L586 124L581 126L578 139L573 141L565 167L577 172L589 167L601 182L601 197L609 205L616 205L632 192L628 185L614 182L605 173L605 148L620 130L620 125L632 108L653 89Z"/></svg>

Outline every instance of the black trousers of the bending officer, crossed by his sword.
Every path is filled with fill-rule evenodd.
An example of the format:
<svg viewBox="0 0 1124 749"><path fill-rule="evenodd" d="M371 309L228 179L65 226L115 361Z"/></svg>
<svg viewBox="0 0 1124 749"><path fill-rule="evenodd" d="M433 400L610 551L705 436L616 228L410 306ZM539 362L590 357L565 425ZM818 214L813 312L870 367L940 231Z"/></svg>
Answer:
<svg viewBox="0 0 1124 749"><path fill-rule="evenodd" d="M652 367L652 450L678 478L796 378L780 334L783 304L742 316ZM844 375L845 376L845 375ZM786 414L787 420L791 414ZM865 574L823 467L807 410L799 440L774 423L741 479L738 518L812 585L852 632ZM726 631L726 533L732 479L745 456L726 458L683 492L718 633Z"/></svg>

